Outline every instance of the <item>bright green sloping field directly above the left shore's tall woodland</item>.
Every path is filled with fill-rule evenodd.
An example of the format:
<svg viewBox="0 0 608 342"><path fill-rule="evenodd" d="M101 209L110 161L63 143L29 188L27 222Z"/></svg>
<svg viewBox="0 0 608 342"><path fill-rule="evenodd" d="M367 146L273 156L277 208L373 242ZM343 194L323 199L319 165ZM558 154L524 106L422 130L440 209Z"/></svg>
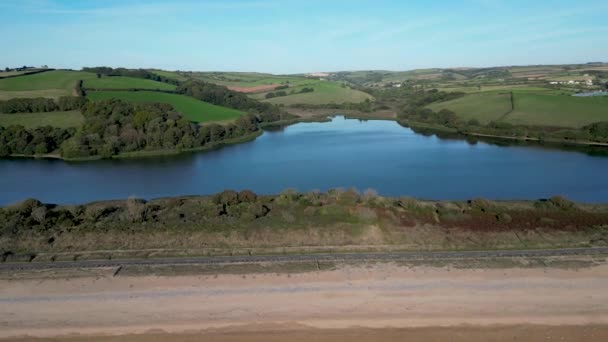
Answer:
<svg viewBox="0 0 608 342"><path fill-rule="evenodd" d="M194 122L226 121L244 114L236 109L216 106L192 97L153 91L91 91L87 97L93 101L116 98L135 103L168 103Z"/></svg>

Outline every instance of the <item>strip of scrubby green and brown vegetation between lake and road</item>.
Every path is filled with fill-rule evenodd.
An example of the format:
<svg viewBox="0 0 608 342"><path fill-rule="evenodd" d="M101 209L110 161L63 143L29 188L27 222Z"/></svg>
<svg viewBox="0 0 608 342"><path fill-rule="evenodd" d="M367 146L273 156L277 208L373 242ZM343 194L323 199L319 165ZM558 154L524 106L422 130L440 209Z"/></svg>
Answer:
<svg viewBox="0 0 608 342"><path fill-rule="evenodd" d="M421 201L372 190L278 195L226 190L203 197L129 198L57 206L34 199L0 209L5 260L234 253L251 248L460 250L601 245L608 207L537 201ZM299 249L298 249L299 248ZM163 252L163 249L168 249ZM84 252L87 251L87 252ZM96 252L100 251L100 252ZM105 251L105 252L101 252ZM112 252L115 251L115 252ZM84 253L84 254L83 254ZM106 253L106 254L104 254ZM66 255L67 254L67 255ZM102 256L103 255L103 256Z"/></svg>

